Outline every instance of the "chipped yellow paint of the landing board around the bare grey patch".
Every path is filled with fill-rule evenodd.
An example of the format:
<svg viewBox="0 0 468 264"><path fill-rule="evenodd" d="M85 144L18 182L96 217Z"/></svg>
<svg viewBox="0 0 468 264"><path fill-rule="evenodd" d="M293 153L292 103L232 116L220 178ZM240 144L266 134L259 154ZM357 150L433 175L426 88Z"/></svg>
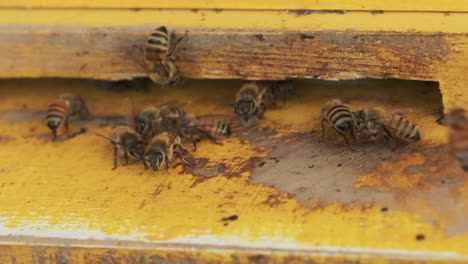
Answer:
<svg viewBox="0 0 468 264"><path fill-rule="evenodd" d="M432 149L446 147L447 132L435 123L441 99L434 84L296 84L297 96L285 106L268 111L258 127L235 127L234 136L224 140L223 145L202 142L199 150L191 153L193 168L177 166L155 173L143 170L140 163L112 171L111 146L94 135L110 133L110 117L120 115L123 98L131 97L142 106L178 102L196 114L230 114L230 103L240 82L194 81L174 89L115 92L80 80L0 81L2 233L468 255L464 227L454 227L460 223L450 221L453 214L460 219L460 214L467 211L466 175L446 152L431 153ZM41 120L41 111L54 97L68 91L83 95L96 117L80 124L88 126L87 133L54 143ZM325 144L323 148L349 151L339 138L323 140L317 135L320 107L334 97L341 97L352 107L379 104L400 109L420 126L422 142L402 146L389 159L373 161L367 173L334 176L336 182L351 181L355 192L364 190L391 198L361 202L352 195L336 200L324 195L307 201L294 190L289 191L284 180L279 180L278 186L271 183L271 178L253 183L261 161L268 161L275 149L287 144L320 141ZM364 144L355 151L363 148L372 146ZM385 145L379 145L379 150L383 148ZM302 157L301 161L306 163L308 159ZM425 163L427 166L417 167ZM301 180L317 176L311 170L303 173ZM444 204L427 202L429 198L424 196L430 194L435 182L444 180L453 183L444 187L444 195L456 202L457 207L447 207L454 212L444 211ZM424 188L420 184L425 184ZM326 193L322 187L318 182L316 190ZM420 199L410 199L412 193ZM395 206L382 210L387 203Z"/></svg>

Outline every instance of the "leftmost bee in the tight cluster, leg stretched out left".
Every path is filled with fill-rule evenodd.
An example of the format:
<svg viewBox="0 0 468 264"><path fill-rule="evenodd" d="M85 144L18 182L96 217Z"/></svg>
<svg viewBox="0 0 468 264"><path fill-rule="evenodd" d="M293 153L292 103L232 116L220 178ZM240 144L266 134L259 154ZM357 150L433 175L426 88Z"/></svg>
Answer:
<svg viewBox="0 0 468 264"><path fill-rule="evenodd" d="M125 164L128 163L128 157L134 160L141 160L145 152L146 144L135 130L128 126L116 127L110 137L96 134L100 137L110 140L114 145L114 168L117 168L119 154L123 156Z"/></svg>

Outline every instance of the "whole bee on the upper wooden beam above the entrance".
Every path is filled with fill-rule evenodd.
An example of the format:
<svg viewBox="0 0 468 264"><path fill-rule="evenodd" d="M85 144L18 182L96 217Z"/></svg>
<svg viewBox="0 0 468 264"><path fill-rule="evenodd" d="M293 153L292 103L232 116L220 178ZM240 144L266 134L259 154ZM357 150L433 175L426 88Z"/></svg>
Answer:
<svg viewBox="0 0 468 264"><path fill-rule="evenodd" d="M173 43L166 27L156 28L148 37L144 51L145 63L150 68L149 78L164 87L175 86L179 80L179 69L175 65L180 53L182 36Z"/></svg>

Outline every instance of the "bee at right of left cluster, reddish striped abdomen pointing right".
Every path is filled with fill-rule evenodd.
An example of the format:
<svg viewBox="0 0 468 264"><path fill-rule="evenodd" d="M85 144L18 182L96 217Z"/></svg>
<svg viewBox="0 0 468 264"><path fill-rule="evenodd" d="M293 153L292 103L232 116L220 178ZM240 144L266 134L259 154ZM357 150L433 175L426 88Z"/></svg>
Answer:
<svg viewBox="0 0 468 264"><path fill-rule="evenodd" d="M192 141L194 151L197 151L197 143L203 138L211 139L215 144L221 144L219 139L231 135L231 118L224 115L204 115L193 119L187 119L186 124L180 129L182 138Z"/></svg>

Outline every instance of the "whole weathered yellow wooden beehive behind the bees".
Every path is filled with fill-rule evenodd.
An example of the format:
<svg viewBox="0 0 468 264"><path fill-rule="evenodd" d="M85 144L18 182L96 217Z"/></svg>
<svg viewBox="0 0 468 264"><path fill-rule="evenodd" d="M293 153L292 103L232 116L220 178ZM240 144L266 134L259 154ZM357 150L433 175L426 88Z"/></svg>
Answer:
<svg viewBox="0 0 468 264"><path fill-rule="evenodd" d="M468 181L436 122L468 107L463 1L0 6L1 263L468 262ZM159 25L188 32L183 76L298 79L297 95L223 145L201 142L192 167L111 170L94 133L121 121L125 97L233 111L239 80L118 90L76 79L145 76L141 50ZM38 77L75 79L18 79ZM93 118L52 142L43 111L70 91ZM391 151L322 138L320 109L336 97L402 110L423 139Z"/></svg>

